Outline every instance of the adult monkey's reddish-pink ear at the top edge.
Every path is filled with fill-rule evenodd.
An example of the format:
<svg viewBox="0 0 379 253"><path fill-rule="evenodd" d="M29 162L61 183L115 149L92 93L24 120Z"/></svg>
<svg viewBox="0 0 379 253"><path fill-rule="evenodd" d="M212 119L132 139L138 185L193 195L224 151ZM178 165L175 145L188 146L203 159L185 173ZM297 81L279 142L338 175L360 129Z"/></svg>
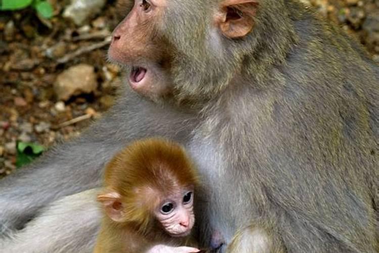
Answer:
<svg viewBox="0 0 379 253"><path fill-rule="evenodd" d="M228 38L247 35L254 26L254 16L259 0L224 0L217 23L221 32Z"/></svg>

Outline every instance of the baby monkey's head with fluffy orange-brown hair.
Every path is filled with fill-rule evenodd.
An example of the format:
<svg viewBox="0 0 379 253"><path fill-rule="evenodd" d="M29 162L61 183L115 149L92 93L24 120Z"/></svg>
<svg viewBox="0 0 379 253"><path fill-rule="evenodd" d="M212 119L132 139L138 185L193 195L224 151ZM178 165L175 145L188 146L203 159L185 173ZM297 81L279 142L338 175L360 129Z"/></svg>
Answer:
<svg viewBox="0 0 379 253"><path fill-rule="evenodd" d="M146 233L158 221L170 236L185 236L195 223L197 184L194 166L181 146L147 139L132 143L111 160L98 200L116 225Z"/></svg>

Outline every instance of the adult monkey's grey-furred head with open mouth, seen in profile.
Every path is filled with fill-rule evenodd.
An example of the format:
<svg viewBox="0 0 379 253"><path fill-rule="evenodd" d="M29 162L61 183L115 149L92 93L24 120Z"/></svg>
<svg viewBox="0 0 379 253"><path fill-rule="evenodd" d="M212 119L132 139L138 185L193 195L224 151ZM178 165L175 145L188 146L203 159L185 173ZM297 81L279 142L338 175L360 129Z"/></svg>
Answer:
<svg viewBox="0 0 379 253"><path fill-rule="evenodd" d="M283 27L291 22L282 20L288 19L282 0L133 4L113 32L109 57L129 66L130 86L148 97L209 99L236 75L259 75L287 55L293 29Z"/></svg>

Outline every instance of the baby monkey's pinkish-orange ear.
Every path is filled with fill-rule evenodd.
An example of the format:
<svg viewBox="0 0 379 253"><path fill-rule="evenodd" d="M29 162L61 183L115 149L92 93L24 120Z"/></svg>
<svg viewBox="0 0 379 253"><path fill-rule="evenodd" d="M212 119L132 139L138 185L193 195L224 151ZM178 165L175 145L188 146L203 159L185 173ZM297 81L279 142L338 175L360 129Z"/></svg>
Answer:
<svg viewBox="0 0 379 253"><path fill-rule="evenodd" d="M98 201L104 206L105 213L115 222L121 222L123 216L123 206L121 196L116 191L109 191L98 195Z"/></svg>

